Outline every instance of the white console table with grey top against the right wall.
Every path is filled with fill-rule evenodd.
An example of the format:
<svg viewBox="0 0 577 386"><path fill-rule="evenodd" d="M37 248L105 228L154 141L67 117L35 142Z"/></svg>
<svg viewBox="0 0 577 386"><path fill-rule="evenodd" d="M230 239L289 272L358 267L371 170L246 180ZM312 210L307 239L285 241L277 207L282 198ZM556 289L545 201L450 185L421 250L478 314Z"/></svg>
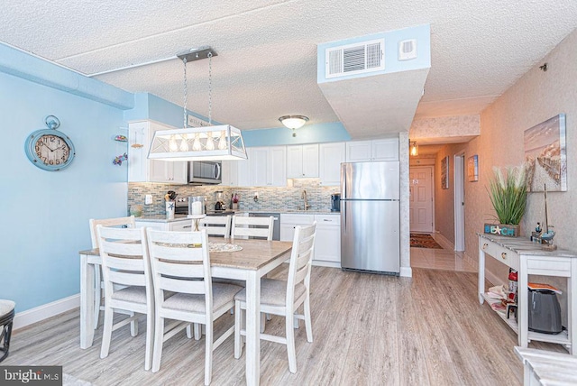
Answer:
<svg viewBox="0 0 577 386"><path fill-rule="evenodd" d="M494 234L479 236L479 302L485 300L485 256L489 255L517 271L517 320L499 316L518 335L518 345L527 347L531 340L565 345L569 352L577 355L577 297L572 290L577 289L577 253L572 251L543 251L541 244L522 237L504 237ZM528 275L559 276L567 278L567 331L561 334L540 334L528 329L527 281ZM523 290L525 289L525 290ZM518 326L517 326L518 323Z"/></svg>

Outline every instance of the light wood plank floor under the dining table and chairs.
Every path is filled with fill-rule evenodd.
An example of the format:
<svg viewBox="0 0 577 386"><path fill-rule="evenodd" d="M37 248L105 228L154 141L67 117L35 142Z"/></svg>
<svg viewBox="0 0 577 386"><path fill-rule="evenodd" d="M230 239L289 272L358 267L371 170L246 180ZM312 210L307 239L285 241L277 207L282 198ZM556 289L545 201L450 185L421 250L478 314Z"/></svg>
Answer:
<svg viewBox="0 0 577 386"><path fill-rule="evenodd" d="M262 385L518 385L517 335L487 304L479 305L471 272L413 269L413 278L313 267L314 343L297 334L298 372L289 372L284 345L261 343ZM71 310L14 333L3 365L63 365L95 385L196 385L204 379L204 337L184 333L164 345L160 372L144 371L144 331L113 335L110 354L79 348L79 311ZM219 319L217 330L234 323ZM273 317L267 332L283 332ZM219 332L217 331L217 334ZM215 351L213 384L244 384L244 355L233 338ZM559 345L531 344L563 351Z"/></svg>

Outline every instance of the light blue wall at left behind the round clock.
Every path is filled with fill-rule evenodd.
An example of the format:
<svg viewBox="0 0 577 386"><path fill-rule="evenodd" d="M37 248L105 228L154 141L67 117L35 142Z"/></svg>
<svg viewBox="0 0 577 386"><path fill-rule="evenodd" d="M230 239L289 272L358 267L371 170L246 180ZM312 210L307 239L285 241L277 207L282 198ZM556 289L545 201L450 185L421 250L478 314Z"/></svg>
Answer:
<svg viewBox="0 0 577 386"><path fill-rule="evenodd" d="M2 72L0 111L0 299L13 299L21 312L78 294L88 219L126 216L126 164L112 161L127 149L114 135L127 133L117 107ZM46 115L56 115L74 142L77 156L65 170L38 169L24 154Z"/></svg>

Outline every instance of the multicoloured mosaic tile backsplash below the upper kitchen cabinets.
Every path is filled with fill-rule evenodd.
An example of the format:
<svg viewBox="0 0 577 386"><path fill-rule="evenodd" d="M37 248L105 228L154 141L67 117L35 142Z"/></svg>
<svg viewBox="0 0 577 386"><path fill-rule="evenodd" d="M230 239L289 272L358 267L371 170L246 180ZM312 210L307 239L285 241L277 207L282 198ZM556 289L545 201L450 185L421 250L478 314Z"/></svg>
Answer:
<svg viewBox="0 0 577 386"><path fill-rule="evenodd" d="M169 190L174 190L179 197L204 196L206 209L213 210L217 201L218 191L223 192L223 200L226 207L230 207L231 197L236 193L239 197L239 210L259 210L279 212L296 210L302 207L304 200L301 198L303 190L307 190L308 210L328 210L331 207L331 194L338 193L339 187L323 187L318 179L292 179L288 187L224 187L215 186L189 186L170 185L159 183L129 182L128 183L128 207L142 205L142 216L164 215L164 195ZM254 195L258 193L258 201L254 201ZM144 197L152 196L152 204L145 205Z"/></svg>

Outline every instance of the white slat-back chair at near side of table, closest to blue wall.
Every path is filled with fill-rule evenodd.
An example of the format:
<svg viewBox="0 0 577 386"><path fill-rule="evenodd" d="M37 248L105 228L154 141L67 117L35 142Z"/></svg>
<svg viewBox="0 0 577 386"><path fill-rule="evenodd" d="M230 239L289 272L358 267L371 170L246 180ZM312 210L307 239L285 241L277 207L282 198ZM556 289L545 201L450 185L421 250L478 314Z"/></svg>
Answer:
<svg viewBox="0 0 577 386"><path fill-rule="evenodd" d="M144 228L96 226L105 288L105 322L100 358L108 356L112 332L146 314L146 356L144 369L152 363L154 297L148 244ZM113 325L114 312L133 312ZM138 331L136 331L137 333Z"/></svg>

